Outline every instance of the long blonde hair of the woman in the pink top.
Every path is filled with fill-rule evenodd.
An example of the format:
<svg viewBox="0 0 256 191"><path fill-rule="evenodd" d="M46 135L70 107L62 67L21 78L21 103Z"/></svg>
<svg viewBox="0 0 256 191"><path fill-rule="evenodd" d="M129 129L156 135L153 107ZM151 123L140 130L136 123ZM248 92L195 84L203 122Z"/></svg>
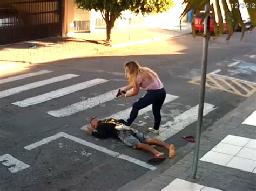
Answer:
<svg viewBox="0 0 256 191"><path fill-rule="evenodd" d="M153 81L153 76L158 77L157 73L147 67L142 67L136 61L125 64L125 75L130 83L136 84L137 77L140 76L144 81Z"/></svg>

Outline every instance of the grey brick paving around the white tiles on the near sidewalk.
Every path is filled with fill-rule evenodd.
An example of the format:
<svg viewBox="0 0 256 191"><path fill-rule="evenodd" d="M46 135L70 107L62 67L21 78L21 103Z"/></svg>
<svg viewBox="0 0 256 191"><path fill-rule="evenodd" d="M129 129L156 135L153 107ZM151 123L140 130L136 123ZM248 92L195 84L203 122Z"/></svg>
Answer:
<svg viewBox="0 0 256 191"><path fill-rule="evenodd" d="M256 93L202 133L199 159L227 135L255 139L255 127L241 124L256 109L255 103ZM192 179L193 146L194 143L188 143L185 148L180 148L177 151L178 155L184 150L192 151L164 173L152 179L143 188L138 188L138 190L161 190L176 178L221 190L256 190L255 173L204 161L198 162L197 178L195 180Z"/></svg>

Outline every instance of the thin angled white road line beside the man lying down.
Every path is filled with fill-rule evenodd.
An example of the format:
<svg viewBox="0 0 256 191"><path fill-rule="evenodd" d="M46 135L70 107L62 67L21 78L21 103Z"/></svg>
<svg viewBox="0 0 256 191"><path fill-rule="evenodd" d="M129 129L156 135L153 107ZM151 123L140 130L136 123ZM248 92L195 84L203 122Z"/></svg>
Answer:
<svg viewBox="0 0 256 191"><path fill-rule="evenodd" d="M154 171L155 169L157 169L156 167L154 167L152 165L149 165L146 162L140 161L138 159L129 157L129 156L124 155L124 154L120 154L118 152L111 151L111 150L109 150L107 148L104 148L102 146L99 146L99 145L87 142L86 140L80 139L78 137L71 136L71 135L69 135L67 133L64 133L64 132L59 132L56 135L44 138L44 139L40 140L39 142L36 142L36 143L31 144L31 145L25 146L24 148L26 150L32 150L34 148L37 148L39 146L42 146L42 145L47 144L49 142L52 142L53 140L56 140L56 139L61 138L61 137L67 138L69 140L72 140L73 142L82 144L84 146L93 148L93 149L95 149L97 151L104 152L106 154L111 155L112 157L116 157L116 158L119 158L119 159L123 159L123 160L129 161L129 162L132 162L132 163L134 163L136 165L139 165L139 166L142 166L144 168L150 169L151 171Z"/></svg>

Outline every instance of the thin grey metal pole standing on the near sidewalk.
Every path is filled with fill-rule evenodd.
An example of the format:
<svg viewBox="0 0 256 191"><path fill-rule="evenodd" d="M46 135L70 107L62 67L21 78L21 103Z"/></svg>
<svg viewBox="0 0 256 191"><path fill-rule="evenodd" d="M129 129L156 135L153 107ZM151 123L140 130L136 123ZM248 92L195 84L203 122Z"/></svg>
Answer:
<svg viewBox="0 0 256 191"><path fill-rule="evenodd" d="M207 3L205 5L205 12L208 11L209 7L210 7L210 4ZM207 56L208 56L208 43L209 43L209 40L207 37L207 25L208 25L208 17L205 17L203 53L202 53L202 63L201 63L201 84L200 84L200 94L199 94L197 129L196 129L196 144L194 147L194 157L193 157L193 166L192 166L193 179L196 179L196 175L197 175L197 163L198 163L201 127L202 127L202 119L203 119L203 111L204 111L205 81L206 81L206 72L207 72Z"/></svg>

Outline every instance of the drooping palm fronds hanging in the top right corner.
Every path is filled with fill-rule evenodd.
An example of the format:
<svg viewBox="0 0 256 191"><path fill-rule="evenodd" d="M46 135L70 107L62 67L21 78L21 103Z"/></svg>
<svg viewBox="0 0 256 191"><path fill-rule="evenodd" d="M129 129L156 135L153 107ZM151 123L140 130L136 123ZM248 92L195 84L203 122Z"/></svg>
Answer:
<svg viewBox="0 0 256 191"><path fill-rule="evenodd" d="M221 3L220 3L221 2ZM204 10L204 6L210 3L210 10L212 11L213 16L213 25L214 25L214 33L215 36L218 37L223 33L223 22L224 18L221 13L220 6L223 6L224 9L224 16L225 16L225 22L227 24L227 30L228 30L228 37L227 40L230 39L234 31L237 29L238 26L241 26L242 29L242 36L244 35L245 31L245 25L244 21L242 20L241 12L239 8L247 9L248 15L250 16L250 20L252 22L253 28L256 26L256 1L255 0L244 0L244 2L240 2L239 0L229 0L229 5L231 10L228 8L228 3L226 0L183 0L183 4L186 4L186 8L184 9L184 12L180 17L183 17L186 15L186 13L190 10L193 10L195 13L195 16L199 14L200 11ZM213 6L213 3L215 3L215 8ZM205 19L205 17L208 16L209 11L204 13L204 17L202 19ZM215 18L218 17L219 22L217 23L215 21ZM194 22L192 22L192 30L193 34L195 35L194 31Z"/></svg>

